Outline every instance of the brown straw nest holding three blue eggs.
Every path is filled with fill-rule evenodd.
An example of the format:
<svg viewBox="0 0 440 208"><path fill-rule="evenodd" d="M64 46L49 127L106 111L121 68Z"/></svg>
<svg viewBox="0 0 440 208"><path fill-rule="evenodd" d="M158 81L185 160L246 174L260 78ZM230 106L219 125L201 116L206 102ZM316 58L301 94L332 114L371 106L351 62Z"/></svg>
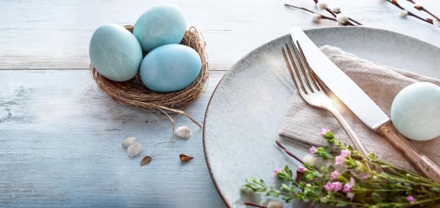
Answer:
<svg viewBox="0 0 440 208"><path fill-rule="evenodd" d="M130 32L133 32L133 26L125 26ZM91 73L99 86L105 93L120 104L133 106L142 111L165 114L173 122L169 114L178 113L187 116L196 125L202 127L199 122L192 118L184 109L195 99L205 92L206 82L208 80L208 63L205 52L205 40L203 35L194 26L191 26L186 33L181 45L186 45L196 50L201 57L202 68L196 80L190 86L172 93L155 93L148 90L141 81L139 74L129 81L111 81L97 72L91 65Z"/></svg>

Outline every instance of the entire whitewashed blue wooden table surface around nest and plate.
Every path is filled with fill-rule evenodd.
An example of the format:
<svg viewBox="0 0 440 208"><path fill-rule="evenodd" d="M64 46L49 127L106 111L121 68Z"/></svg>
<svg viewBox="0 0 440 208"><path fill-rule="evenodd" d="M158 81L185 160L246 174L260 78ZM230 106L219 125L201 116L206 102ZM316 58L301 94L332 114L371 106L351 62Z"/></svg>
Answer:
<svg viewBox="0 0 440 208"><path fill-rule="evenodd" d="M0 0L1 206L224 207L207 171L201 129L176 118L193 136L159 145L159 155L139 167L141 157L129 159L120 142L136 136L141 155L149 154L152 145L171 139L171 122L116 104L88 71L88 42L97 26L132 24L160 2ZM315 24L310 14L278 0L171 2L183 8L189 25L204 31L208 43L207 91L187 109L200 122L219 79L251 49L290 26L336 25ZM440 46L440 28L402 19L383 0L330 2L366 26ZM440 14L437 1L420 2ZM289 3L314 10L312 0ZM181 163L180 153L195 159Z"/></svg>

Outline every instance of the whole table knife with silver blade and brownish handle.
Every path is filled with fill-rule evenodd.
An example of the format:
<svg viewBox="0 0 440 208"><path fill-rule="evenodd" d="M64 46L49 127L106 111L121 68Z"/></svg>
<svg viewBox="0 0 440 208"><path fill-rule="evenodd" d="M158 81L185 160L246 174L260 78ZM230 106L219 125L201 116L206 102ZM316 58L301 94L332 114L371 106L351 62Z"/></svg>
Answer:
<svg viewBox="0 0 440 208"><path fill-rule="evenodd" d="M299 27L292 27L290 35L299 41L308 64L321 81L335 94L365 125L382 135L396 150L401 152L419 173L440 183L440 168L429 158L411 146L407 138L393 127L388 115L363 92L347 74L325 56L315 43Z"/></svg>

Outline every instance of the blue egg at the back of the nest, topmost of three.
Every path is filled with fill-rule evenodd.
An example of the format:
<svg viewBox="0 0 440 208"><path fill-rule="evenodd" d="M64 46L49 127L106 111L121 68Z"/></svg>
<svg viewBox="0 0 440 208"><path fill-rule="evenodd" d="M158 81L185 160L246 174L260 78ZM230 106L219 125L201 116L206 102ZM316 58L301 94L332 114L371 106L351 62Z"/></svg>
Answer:
<svg viewBox="0 0 440 208"><path fill-rule="evenodd" d="M187 29L183 10L171 3L148 9L134 24L133 34L146 53L168 44L179 44Z"/></svg>

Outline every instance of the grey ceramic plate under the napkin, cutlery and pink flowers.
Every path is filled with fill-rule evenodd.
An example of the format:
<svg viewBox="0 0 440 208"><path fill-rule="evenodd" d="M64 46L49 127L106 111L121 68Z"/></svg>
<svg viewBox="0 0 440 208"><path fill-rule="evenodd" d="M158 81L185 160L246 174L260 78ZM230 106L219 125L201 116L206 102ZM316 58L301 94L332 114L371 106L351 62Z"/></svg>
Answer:
<svg viewBox="0 0 440 208"><path fill-rule="evenodd" d="M333 45L370 61L440 78L440 49L406 35L358 26L311 29L306 34L319 47ZM244 207L247 200L266 205L268 198L240 191L244 179L262 178L274 186L274 167L297 167L274 146L275 140L301 157L307 152L278 136L294 93L280 50L289 40L290 35L284 35L244 56L221 79L207 106L205 157L228 207Z"/></svg>

